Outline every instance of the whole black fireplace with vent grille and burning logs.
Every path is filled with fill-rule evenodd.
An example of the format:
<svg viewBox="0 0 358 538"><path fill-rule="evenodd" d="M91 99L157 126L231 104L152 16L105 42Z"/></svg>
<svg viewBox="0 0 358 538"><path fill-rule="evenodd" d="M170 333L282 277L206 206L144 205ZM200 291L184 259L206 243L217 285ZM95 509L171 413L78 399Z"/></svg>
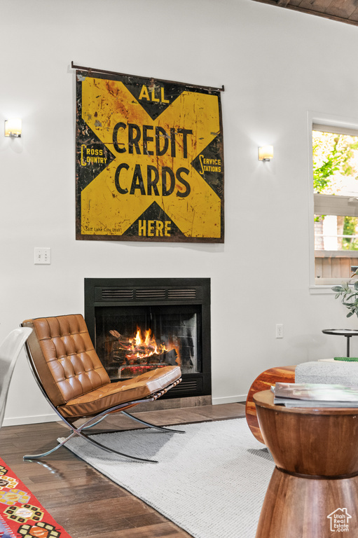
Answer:
<svg viewBox="0 0 358 538"><path fill-rule="evenodd" d="M179 365L163 398L212 393L209 278L85 278L85 322L111 381Z"/></svg>

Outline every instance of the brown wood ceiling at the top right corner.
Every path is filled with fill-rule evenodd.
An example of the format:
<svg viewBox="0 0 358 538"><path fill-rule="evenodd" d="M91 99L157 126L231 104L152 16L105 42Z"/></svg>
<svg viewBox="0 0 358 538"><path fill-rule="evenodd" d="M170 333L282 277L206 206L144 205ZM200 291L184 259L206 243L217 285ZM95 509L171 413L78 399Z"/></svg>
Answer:
<svg viewBox="0 0 358 538"><path fill-rule="evenodd" d="M358 0L256 0L358 26Z"/></svg>

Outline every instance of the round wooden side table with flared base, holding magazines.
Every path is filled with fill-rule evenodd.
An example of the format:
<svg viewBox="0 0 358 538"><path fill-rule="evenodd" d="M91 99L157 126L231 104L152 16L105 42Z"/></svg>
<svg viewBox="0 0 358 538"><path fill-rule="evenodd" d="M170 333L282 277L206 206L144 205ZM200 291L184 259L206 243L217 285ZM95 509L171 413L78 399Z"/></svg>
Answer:
<svg viewBox="0 0 358 538"><path fill-rule="evenodd" d="M276 464L256 538L357 537L358 408L277 406L270 390L254 401Z"/></svg>

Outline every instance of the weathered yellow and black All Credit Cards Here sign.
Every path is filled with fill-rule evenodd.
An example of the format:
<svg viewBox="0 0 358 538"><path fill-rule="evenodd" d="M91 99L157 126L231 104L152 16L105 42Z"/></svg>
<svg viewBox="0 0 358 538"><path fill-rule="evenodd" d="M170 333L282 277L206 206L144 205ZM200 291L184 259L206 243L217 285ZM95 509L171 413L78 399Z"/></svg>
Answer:
<svg viewBox="0 0 358 538"><path fill-rule="evenodd" d="M223 242L219 90L76 71L76 238Z"/></svg>

